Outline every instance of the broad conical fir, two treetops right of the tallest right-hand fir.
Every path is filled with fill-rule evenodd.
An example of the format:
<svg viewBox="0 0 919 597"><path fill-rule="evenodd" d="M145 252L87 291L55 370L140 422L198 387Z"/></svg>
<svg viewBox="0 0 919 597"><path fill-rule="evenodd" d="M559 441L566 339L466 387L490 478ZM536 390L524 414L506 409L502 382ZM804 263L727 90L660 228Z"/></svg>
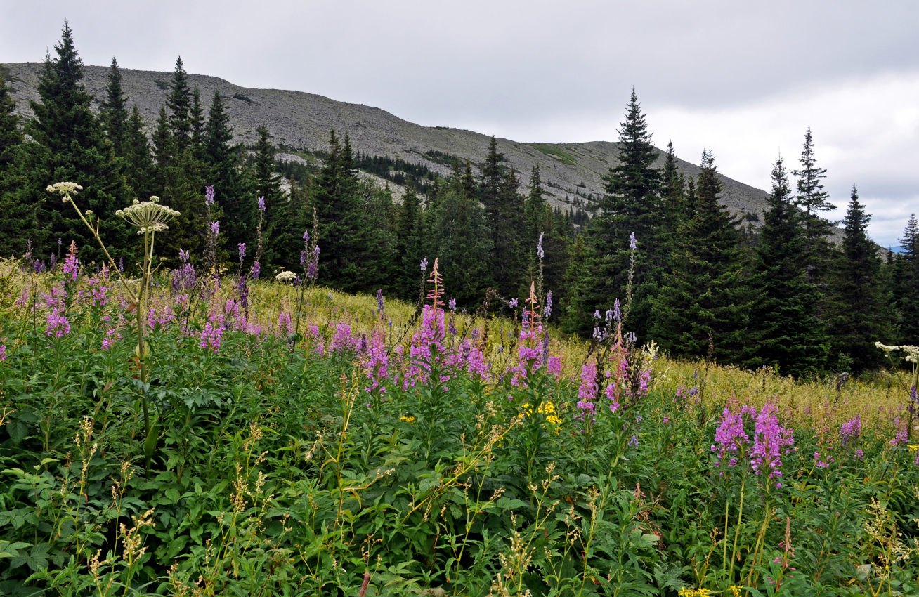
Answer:
<svg viewBox="0 0 919 597"><path fill-rule="evenodd" d="M653 299L651 335L675 356L738 363L752 301L746 286L737 220L719 202L712 154L702 152L695 215L680 229L671 269Z"/></svg>

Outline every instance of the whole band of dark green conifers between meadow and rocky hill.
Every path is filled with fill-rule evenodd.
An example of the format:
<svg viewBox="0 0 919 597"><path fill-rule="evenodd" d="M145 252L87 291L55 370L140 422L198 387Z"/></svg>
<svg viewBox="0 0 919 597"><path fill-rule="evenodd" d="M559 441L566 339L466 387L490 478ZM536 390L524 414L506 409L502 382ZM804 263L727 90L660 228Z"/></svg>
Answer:
<svg viewBox="0 0 919 597"><path fill-rule="evenodd" d="M396 202L388 183L359 175L386 175L391 160L355 152L347 133L330 133L316 167L278 163L264 128L254 146L233 144L223 98L215 93L205 113L181 58L148 137L137 107L129 110L114 59L96 115L66 24L54 51L31 118L20 121L0 82L3 255L42 263L73 240L85 262L99 260L72 210L43 190L70 180L84 186L78 200L99 216L105 242L129 251L136 242L115 210L135 197L163 197L181 216L160 237L158 253L165 265L176 265L180 249L195 260L211 223L205 188L213 186L210 220L219 221L222 263L254 260L241 245L254 247L260 237L262 271L300 271L309 261L309 232L318 236L323 284L350 292L382 288L416 299L422 260L437 256L460 308L475 309L489 291L498 298L493 306L522 296L539 279L552 292L551 320L564 332L589 336L613 317L619 299L617 315L639 342L798 377L880 366L876 341L916 344L919 337L919 224L914 216L907 222L902 253L882 255L868 239L870 216L853 186L843 241L831 242L832 225L821 216L833 206L811 130L798 169L789 171L780 156L774 163L758 231L720 204L711 152L702 153L695 178L678 170L673 143L663 167L654 166L658 152L634 91L618 165L589 221L550 207L538 167L524 187L494 137L475 171L459 160L448 176L402 164L408 176L393 179L406 184Z"/></svg>

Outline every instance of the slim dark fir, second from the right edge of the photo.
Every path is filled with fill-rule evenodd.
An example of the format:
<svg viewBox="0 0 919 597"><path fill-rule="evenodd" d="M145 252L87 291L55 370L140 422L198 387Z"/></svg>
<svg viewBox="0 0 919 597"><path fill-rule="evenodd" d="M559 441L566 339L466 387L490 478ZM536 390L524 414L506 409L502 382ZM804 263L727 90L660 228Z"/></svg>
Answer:
<svg viewBox="0 0 919 597"><path fill-rule="evenodd" d="M883 365L883 353L875 343L888 344L893 333L891 312L882 300L879 285L878 246L868 238L869 220L871 216L853 186L845 212L843 243L834 267L829 323L833 330L831 366L843 369L851 364L855 372Z"/></svg>

